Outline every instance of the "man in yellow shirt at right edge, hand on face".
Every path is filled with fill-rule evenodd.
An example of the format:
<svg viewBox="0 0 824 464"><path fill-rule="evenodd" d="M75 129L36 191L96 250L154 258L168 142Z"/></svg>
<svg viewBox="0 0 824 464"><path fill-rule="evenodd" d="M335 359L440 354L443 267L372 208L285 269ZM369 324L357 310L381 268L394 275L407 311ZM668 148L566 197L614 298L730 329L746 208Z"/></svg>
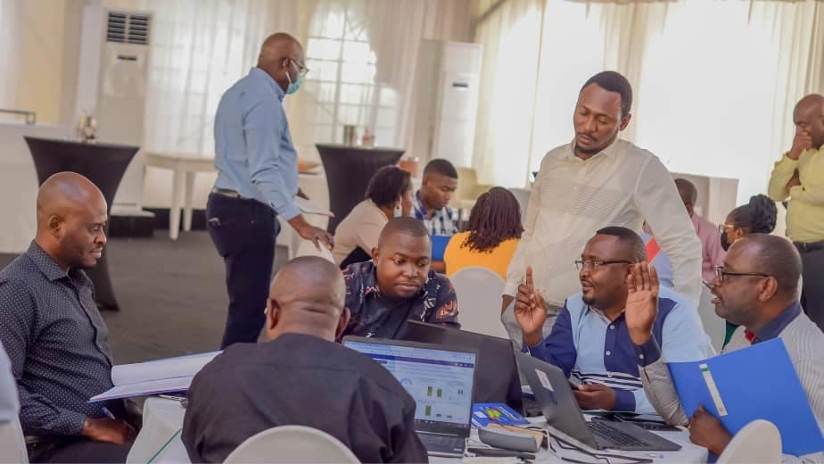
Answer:
<svg viewBox="0 0 824 464"><path fill-rule="evenodd" d="M807 95L793 112L793 146L775 163L768 195L787 203L787 236L803 262L801 305L824 329L824 95Z"/></svg>

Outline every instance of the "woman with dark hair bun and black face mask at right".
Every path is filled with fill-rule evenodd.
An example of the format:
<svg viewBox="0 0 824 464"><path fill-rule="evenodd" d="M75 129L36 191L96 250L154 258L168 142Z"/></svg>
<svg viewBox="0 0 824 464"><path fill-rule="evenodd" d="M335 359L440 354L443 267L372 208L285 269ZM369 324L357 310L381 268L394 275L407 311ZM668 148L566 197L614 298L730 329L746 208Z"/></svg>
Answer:
<svg viewBox="0 0 824 464"><path fill-rule="evenodd" d="M753 195L749 203L742 204L729 211L727 220L718 229L721 232L721 248L726 252L729 246L750 234L771 234L775 229L779 210L767 195ZM727 321L727 334L724 336L724 346L736 331L735 324Z"/></svg>

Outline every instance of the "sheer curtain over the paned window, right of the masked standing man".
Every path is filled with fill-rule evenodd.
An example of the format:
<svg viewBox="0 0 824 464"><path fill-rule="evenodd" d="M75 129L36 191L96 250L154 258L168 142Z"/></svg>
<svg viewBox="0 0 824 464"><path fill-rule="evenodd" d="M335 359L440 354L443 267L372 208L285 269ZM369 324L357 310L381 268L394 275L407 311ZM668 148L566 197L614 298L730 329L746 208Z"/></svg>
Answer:
<svg viewBox="0 0 824 464"><path fill-rule="evenodd" d="M307 84L290 98L301 156L342 142L342 127L365 128L377 145L409 147L417 57L424 39L469 40L469 0L320 0L309 22Z"/></svg>

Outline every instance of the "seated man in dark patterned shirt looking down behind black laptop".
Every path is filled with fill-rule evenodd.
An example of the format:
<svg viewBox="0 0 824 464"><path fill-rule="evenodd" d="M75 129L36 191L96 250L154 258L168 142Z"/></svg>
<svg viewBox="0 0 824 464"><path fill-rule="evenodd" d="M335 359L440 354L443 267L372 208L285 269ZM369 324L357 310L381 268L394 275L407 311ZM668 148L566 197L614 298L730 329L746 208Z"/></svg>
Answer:
<svg viewBox="0 0 824 464"><path fill-rule="evenodd" d="M372 261L343 270L351 312L342 336L399 338L408 319L460 328L449 279L429 269L432 242L420 220L395 218L381 231Z"/></svg>

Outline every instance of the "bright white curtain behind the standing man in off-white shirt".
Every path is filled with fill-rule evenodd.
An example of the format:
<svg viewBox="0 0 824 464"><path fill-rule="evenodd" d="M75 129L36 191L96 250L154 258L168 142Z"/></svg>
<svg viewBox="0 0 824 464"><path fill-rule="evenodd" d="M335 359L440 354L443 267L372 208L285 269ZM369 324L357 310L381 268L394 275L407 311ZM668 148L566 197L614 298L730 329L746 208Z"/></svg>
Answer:
<svg viewBox="0 0 824 464"><path fill-rule="evenodd" d="M476 29L487 98L474 165L483 182L522 186L572 140L581 84L618 70L635 93L622 137L672 171L739 178L743 201L790 145L795 102L821 91L822 14L813 0L508 0Z"/></svg>

